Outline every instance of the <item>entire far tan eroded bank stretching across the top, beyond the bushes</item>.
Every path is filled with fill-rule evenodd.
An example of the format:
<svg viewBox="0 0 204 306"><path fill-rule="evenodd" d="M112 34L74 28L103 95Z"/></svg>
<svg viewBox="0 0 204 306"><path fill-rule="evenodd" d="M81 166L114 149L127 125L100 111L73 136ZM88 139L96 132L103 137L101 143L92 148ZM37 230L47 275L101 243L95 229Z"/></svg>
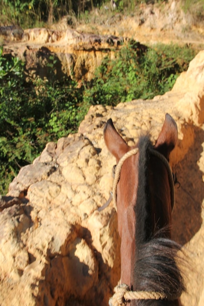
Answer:
<svg viewBox="0 0 204 306"><path fill-rule="evenodd" d="M137 5L132 16L122 12L103 14L102 8L95 9L90 13L92 22L76 23L74 29L68 26L70 16L50 28L1 26L0 42L5 54L18 56L26 63L30 77L59 79L68 75L79 82L82 78L90 81L104 57L113 59L121 45L130 40L145 45L183 42L199 48L204 27L195 30L194 25L191 29L192 17L184 14L182 7L178 0L164 1L162 5L143 3Z"/></svg>

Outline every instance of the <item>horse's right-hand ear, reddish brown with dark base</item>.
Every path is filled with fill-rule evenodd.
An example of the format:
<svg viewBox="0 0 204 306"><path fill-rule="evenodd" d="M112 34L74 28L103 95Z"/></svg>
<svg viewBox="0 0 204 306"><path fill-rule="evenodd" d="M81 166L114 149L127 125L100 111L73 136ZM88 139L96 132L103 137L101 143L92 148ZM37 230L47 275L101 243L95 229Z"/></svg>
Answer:
<svg viewBox="0 0 204 306"><path fill-rule="evenodd" d="M169 159L169 154L175 148L178 140L178 129L175 120L166 114L165 121L161 132L159 134L158 140L155 145L160 153L162 153L167 159Z"/></svg>

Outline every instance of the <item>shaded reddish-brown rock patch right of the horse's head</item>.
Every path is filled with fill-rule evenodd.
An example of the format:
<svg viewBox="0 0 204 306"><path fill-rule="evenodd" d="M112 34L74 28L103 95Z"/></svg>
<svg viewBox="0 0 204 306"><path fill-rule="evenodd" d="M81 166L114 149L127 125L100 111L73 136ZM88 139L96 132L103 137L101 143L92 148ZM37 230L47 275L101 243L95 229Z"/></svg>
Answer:
<svg viewBox="0 0 204 306"><path fill-rule="evenodd" d="M179 188L175 186L176 205L172 216L172 236L182 245L190 241L202 225L204 174L198 161L204 150L204 131L194 128L194 134L194 144L174 169L181 185Z"/></svg>

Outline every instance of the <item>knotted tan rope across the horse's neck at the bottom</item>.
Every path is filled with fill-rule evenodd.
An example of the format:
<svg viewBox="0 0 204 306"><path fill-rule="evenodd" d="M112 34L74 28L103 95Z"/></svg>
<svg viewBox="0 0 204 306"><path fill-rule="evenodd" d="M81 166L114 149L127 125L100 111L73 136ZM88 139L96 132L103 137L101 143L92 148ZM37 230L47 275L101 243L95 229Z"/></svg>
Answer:
<svg viewBox="0 0 204 306"><path fill-rule="evenodd" d="M114 294L109 299L109 306L126 306L131 300L163 300L166 295L158 291L130 291L126 284L114 288Z"/></svg>

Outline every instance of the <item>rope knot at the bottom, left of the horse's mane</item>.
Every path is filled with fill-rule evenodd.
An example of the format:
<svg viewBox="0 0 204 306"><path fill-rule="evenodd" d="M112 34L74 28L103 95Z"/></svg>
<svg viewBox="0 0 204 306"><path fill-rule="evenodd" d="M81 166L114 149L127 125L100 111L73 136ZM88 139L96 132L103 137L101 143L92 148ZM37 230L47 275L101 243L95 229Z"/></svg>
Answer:
<svg viewBox="0 0 204 306"><path fill-rule="evenodd" d="M114 294L109 299L109 306L126 306L128 301L125 300L124 295L130 291L130 287L126 284L119 284L114 287Z"/></svg>

